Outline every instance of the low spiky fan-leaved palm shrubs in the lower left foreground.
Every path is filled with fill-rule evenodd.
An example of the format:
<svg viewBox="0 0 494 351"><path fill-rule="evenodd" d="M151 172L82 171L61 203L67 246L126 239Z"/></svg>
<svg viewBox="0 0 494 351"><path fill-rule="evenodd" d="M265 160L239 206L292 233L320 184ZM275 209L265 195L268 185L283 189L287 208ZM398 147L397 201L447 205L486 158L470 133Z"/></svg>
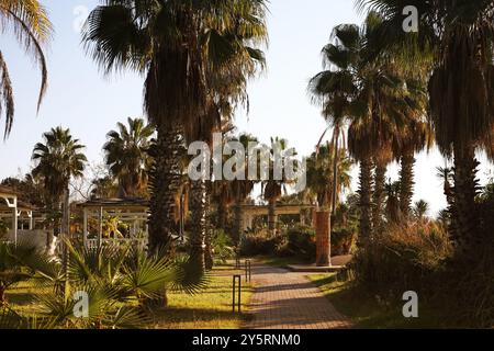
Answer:
<svg viewBox="0 0 494 351"><path fill-rule="evenodd" d="M0 326L19 328L136 328L153 319L151 308L168 291L197 294L207 283L207 276L187 259L170 260L159 252L148 256L130 246L86 248L67 242L68 263L57 259L42 259L45 264L22 261L22 269L40 293L33 296L37 306L34 316L22 316L13 309L0 313ZM87 315L75 314L85 294ZM19 319L21 318L21 319Z"/></svg>

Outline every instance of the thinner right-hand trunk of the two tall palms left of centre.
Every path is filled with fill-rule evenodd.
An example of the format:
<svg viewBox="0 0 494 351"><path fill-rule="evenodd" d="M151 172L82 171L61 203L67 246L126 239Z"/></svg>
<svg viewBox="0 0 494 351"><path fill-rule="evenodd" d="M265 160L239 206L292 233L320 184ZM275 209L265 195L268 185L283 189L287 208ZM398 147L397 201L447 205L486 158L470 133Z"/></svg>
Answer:
<svg viewBox="0 0 494 351"><path fill-rule="evenodd" d="M194 264L205 269L205 238L207 226L206 183L204 180L192 181L190 193L192 227L190 233L190 257Z"/></svg>

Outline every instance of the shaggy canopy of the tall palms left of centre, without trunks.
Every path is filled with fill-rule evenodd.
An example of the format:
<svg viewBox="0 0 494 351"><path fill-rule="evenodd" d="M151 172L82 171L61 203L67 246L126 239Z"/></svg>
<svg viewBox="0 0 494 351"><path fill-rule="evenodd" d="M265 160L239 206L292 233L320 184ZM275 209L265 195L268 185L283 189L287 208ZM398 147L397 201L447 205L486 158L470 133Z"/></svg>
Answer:
<svg viewBox="0 0 494 351"><path fill-rule="evenodd" d="M263 61L246 44L267 38L265 12L263 0L105 0L91 12L83 41L105 72L146 73L151 123L181 122L194 136L211 117L209 100L225 105L225 97L245 97L247 77Z"/></svg>

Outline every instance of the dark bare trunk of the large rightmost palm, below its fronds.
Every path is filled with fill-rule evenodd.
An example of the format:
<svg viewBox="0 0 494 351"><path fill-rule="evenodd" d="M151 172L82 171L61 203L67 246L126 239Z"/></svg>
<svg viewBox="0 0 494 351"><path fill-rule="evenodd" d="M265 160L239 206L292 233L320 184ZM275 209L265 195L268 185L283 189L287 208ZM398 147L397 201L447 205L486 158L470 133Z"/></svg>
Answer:
<svg viewBox="0 0 494 351"><path fill-rule="evenodd" d="M478 212L475 211L479 165L473 145L465 148L454 146L454 188L452 190L454 203L451 231L458 253L467 257L474 254L475 248L482 245L478 230Z"/></svg>

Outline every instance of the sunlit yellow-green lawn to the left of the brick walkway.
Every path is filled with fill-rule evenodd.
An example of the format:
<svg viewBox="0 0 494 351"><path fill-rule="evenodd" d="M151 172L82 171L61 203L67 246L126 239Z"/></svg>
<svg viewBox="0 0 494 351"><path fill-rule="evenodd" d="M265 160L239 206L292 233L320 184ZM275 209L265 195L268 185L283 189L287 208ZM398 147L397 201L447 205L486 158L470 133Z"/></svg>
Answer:
<svg viewBox="0 0 494 351"><path fill-rule="evenodd" d="M232 265L216 267L207 287L197 295L169 293L169 306L156 312L155 322L148 328L161 329L238 329L247 321L251 284L243 276L242 314L232 312L232 275L242 274ZM20 283L7 293L9 304L18 313L30 315L36 306L32 296L38 293L32 284Z"/></svg>

